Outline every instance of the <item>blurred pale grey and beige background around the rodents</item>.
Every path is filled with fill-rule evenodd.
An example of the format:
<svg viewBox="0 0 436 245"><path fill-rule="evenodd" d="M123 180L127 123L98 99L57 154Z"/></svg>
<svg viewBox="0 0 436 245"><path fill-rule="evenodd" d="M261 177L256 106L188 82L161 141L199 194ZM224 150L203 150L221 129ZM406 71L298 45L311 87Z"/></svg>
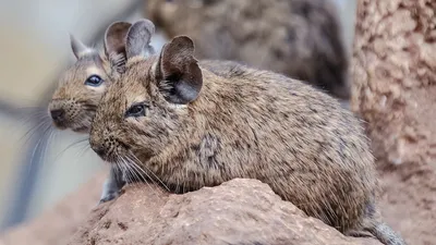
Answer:
<svg viewBox="0 0 436 245"><path fill-rule="evenodd" d="M355 0L334 0L350 50ZM72 132L45 136L40 117L57 78L75 59L69 33L100 45L113 21L143 17L144 0L0 0L0 224L1 231L38 216L105 166ZM153 44L159 50L165 37ZM71 146L71 147L70 147Z"/></svg>

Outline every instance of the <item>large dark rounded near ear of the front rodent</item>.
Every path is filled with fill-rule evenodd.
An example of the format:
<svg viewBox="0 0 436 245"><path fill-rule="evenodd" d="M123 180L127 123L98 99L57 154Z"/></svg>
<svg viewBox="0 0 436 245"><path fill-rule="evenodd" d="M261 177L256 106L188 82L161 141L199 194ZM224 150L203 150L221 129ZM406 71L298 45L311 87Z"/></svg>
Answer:
<svg viewBox="0 0 436 245"><path fill-rule="evenodd" d="M178 36L165 45L158 68L158 86L168 101L185 105L198 97L203 74L191 38Z"/></svg>

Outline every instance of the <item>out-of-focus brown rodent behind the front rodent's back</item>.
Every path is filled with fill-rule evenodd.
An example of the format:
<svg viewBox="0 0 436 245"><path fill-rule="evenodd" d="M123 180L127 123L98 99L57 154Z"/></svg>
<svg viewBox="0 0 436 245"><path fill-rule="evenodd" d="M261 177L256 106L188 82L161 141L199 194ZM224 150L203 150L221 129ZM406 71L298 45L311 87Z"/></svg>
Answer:
<svg viewBox="0 0 436 245"><path fill-rule="evenodd" d="M234 60L350 98L349 57L329 0L148 0L145 16L199 59Z"/></svg>

